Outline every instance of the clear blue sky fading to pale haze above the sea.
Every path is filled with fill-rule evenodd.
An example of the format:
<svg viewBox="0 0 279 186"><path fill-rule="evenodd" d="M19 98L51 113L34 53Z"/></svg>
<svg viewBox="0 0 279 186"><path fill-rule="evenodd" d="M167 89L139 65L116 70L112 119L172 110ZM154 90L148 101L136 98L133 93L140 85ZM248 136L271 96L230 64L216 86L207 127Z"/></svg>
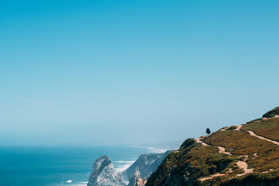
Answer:
<svg viewBox="0 0 279 186"><path fill-rule="evenodd" d="M0 1L0 145L183 141L279 105L279 1Z"/></svg>

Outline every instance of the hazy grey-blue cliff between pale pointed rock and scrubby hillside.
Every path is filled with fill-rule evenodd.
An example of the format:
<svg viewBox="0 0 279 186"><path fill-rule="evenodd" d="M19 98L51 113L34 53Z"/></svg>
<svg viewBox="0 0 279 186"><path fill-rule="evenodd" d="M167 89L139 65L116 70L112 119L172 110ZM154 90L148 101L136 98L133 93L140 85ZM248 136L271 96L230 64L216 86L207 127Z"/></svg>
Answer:
<svg viewBox="0 0 279 186"><path fill-rule="evenodd" d="M151 176L151 173L156 171L160 163L163 162L165 157L167 157L170 152L172 152L172 150L168 150L165 153L140 155L137 161L122 172L122 175L126 176L129 180L135 178L143 178L146 180Z"/></svg>

